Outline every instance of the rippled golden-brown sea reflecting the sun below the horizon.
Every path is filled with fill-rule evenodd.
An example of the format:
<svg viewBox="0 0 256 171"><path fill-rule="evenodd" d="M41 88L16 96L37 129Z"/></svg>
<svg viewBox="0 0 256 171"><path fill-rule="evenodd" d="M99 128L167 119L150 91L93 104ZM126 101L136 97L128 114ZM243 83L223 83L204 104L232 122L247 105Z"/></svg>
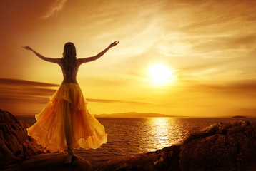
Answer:
<svg viewBox="0 0 256 171"><path fill-rule="evenodd" d="M33 125L34 117L17 117ZM215 123L256 118L97 118L108 134L107 143L96 150L75 150L94 170L103 162L125 155L153 152L182 142L189 133Z"/></svg>

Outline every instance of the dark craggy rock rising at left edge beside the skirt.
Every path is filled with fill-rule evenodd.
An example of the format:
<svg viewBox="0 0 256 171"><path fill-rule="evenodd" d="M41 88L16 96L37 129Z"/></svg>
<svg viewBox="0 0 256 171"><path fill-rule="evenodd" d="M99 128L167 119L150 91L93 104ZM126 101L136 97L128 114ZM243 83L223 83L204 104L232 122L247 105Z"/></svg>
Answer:
<svg viewBox="0 0 256 171"><path fill-rule="evenodd" d="M11 113L0 110L0 168L43 152L22 125L27 126Z"/></svg>

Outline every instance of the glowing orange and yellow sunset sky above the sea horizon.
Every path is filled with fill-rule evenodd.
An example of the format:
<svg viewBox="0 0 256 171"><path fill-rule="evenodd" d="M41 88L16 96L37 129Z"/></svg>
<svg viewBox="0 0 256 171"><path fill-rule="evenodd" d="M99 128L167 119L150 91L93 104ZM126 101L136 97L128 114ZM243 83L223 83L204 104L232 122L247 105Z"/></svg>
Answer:
<svg viewBox="0 0 256 171"><path fill-rule="evenodd" d="M72 41L83 58L120 41L79 68L91 113L256 117L255 11L254 0L1 1L0 108L39 113L63 79L21 46L61 58ZM157 83L154 64L172 76Z"/></svg>

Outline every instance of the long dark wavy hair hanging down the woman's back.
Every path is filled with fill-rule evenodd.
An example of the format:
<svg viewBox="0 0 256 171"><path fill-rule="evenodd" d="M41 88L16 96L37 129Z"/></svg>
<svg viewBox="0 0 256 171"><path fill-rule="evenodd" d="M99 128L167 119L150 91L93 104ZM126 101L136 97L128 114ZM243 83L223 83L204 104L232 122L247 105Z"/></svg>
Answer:
<svg viewBox="0 0 256 171"><path fill-rule="evenodd" d="M67 74L67 76L71 76L74 71L74 68L76 68L77 66L77 52L74 43L65 43L62 55L62 67L64 68L64 71Z"/></svg>

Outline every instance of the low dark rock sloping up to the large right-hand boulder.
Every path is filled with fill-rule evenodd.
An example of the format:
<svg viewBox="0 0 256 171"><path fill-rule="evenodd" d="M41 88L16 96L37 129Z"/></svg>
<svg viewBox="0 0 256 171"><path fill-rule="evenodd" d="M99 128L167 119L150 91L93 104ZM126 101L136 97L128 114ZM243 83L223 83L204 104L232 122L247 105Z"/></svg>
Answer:
<svg viewBox="0 0 256 171"><path fill-rule="evenodd" d="M179 145L156 152L119 157L105 162L98 171L108 170L179 170Z"/></svg>

